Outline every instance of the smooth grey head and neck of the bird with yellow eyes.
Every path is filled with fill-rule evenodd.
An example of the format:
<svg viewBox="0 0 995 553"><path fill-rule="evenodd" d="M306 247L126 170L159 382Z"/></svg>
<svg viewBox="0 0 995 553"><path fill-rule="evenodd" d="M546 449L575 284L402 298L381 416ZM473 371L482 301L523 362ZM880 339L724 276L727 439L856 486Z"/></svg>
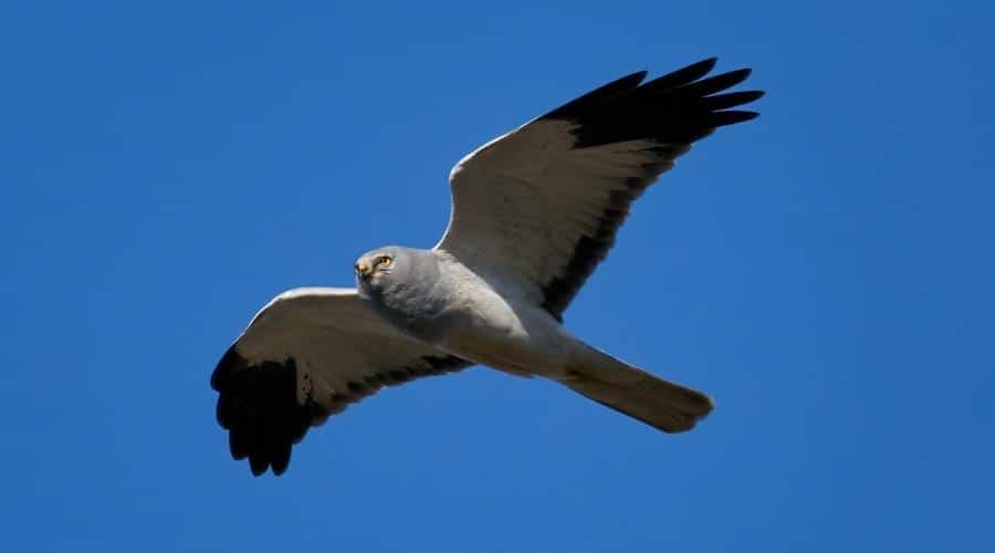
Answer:
<svg viewBox="0 0 995 553"><path fill-rule="evenodd" d="M449 303L439 262L429 250L387 246L356 260L359 296L380 319L422 340Z"/></svg>

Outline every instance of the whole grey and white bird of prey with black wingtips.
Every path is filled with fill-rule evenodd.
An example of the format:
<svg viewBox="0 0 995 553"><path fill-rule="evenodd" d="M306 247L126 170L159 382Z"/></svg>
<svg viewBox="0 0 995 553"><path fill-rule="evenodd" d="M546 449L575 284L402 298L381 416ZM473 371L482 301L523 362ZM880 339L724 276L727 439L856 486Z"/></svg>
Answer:
<svg viewBox="0 0 995 553"><path fill-rule="evenodd" d="M449 177L452 212L430 250L388 246L356 288L286 291L218 363L211 387L234 459L282 474L307 429L384 386L488 365L541 376L664 432L711 399L574 336L563 312L605 259L629 206L761 91L715 59L633 73L484 144Z"/></svg>

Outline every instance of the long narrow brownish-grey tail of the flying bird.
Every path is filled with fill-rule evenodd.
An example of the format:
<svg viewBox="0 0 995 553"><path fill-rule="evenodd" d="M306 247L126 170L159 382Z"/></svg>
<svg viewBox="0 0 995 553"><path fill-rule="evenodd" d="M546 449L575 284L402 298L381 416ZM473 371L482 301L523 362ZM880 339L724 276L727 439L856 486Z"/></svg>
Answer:
<svg viewBox="0 0 995 553"><path fill-rule="evenodd" d="M663 430L683 432L712 410L709 396L664 380L599 349L576 356L558 382L574 392L636 420Z"/></svg>

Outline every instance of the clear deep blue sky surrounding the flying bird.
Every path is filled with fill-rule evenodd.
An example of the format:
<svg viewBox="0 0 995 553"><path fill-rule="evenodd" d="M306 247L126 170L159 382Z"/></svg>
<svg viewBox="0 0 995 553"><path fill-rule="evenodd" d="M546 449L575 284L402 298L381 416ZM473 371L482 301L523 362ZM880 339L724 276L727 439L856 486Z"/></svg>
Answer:
<svg viewBox="0 0 995 553"><path fill-rule="evenodd" d="M984 551L984 2L6 2L4 551ZM251 315L430 247L450 167L622 74L752 66L760 119L635 206L568 326L706 390L667 436L474 368L229 458Z"/></svg>

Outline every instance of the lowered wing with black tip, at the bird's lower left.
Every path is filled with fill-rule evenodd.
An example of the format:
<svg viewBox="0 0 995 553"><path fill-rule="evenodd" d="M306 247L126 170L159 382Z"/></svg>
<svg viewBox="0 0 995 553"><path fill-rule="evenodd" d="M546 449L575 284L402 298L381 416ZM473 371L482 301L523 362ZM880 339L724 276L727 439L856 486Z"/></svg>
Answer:
<svg viewBox="0 0 995 553"><path fill-rule="evenodd" d="M231 455L281 474L291 446L352 403L470 366L377 320L355 289L302 288L263 307L211 375Z"/></svg>

